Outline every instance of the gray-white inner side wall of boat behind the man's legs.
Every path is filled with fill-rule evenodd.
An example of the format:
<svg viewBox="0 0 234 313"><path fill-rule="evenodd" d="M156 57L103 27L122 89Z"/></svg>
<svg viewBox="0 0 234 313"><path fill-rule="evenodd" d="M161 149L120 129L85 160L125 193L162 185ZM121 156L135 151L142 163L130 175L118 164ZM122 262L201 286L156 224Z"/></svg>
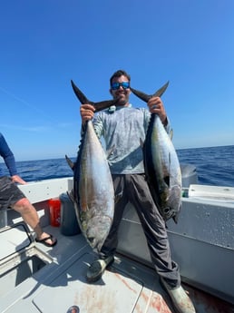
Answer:
<svg viewBox="0 0 234 313"><path fill-rule="evenodd" d="M183 281L234 304L234 202L182 199L178 224L168 223L171 255ZM136 211L128 205L119 250L151 264ZM126 236L127 234L127 236Z"/></svg>

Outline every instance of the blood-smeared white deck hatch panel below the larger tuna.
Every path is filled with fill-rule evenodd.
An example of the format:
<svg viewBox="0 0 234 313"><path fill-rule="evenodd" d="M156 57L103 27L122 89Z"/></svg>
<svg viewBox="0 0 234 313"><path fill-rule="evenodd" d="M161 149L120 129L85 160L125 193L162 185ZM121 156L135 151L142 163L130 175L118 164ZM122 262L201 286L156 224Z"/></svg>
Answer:
<svg viewBox="0 0 234 313"><path fill-rule="evenodd" d="M41 312L66 312L71 306L77 306L80 313L120 313L132 312L140 297L142 284L126 275L106 270L102 279L89 284L85 274L93 255L86 253L73 265L63 271L39 294L33 303Z"/></svg>

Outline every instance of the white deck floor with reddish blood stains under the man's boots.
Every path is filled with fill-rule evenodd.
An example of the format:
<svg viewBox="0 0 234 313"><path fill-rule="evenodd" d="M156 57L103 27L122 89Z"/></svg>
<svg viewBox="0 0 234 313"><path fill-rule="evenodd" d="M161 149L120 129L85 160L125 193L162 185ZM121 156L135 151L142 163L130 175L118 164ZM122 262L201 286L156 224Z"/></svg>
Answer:
<svg viewBox="0 0 234 313"><path fill-rule="evenodd" d="M83 235L63 236L59 228L51 226L45 227L45 231L58 239L53 249L34 242L27 247L40 251L48 260L44 267L38 266L38 270L24 280L20 269L16 269L12 274L15 286L3 283L5 273L1 273L0 312L65 313L73 305L80 313L174 312L170 298L150 267L117 254L102 279L87 283L85 274L96 256ZM229 303L187 284L183 287L198 313L234 313Z"/></svg>

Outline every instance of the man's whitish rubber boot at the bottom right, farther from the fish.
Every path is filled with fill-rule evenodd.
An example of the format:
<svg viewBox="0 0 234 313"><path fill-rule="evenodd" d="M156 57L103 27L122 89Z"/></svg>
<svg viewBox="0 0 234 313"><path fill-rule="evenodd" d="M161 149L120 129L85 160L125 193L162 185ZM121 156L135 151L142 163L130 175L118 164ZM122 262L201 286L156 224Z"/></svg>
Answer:
<svg viewBox="0 0 234 313"><path fill-rule="evenodd" d="M190 300L190 297L180 287L171 288L170 285L166 283L164 279L161 278L161 285L166 289L167 293L171 297L174 308L176 308L178 313L196 313L196 310Z"/></svg>

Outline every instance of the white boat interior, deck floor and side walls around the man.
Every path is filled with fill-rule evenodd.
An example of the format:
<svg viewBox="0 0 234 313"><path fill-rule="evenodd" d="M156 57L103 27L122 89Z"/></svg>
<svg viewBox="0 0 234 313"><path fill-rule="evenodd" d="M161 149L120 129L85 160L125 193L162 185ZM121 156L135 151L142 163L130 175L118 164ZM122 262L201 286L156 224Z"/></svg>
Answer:
<svg viewBox="0 0 234 313"><path fill-rule="evenodd" d="M15 210L0 214L0 312L66 313L76 305L80 313L174 313L152 269L141 223L131 206L119 231L120 253L102 279L86 281L89 264L96 258L93 250L82 234L64 236L61 228L49 225L48 200L72 186L71 178L19 186L34 203L44 230L58 239L54 248L35 243ZM192 187L197 197L199 187ZM204 200L202 194L202 199L182 198L182 203L180 223L168 225L171 253L186 282L182 285L197 313L234 313L234 202Z"/></svg>

